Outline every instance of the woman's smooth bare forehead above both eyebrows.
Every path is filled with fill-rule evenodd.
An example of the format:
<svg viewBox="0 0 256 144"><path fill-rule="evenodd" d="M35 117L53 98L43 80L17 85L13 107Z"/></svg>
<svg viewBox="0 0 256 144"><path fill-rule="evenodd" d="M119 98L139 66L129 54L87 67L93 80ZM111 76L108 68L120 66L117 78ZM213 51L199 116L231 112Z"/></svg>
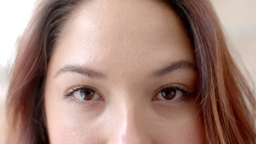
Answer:
<svg viewBox="0 0 256 144"><path fill-rule="evenodd" d="M193 49L176 13L164 3L149 0L80 5L62 28L53 55L60 67L101 65L101 71L149 65L159 68L159 64L181 59L194 62Z"/></svg>

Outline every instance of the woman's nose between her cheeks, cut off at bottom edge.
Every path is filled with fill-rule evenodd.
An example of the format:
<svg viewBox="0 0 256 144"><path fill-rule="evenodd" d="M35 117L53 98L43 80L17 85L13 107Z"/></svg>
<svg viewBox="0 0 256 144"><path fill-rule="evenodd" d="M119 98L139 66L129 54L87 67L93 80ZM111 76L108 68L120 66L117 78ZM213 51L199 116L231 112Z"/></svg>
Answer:
<svg viewBox="0 0 256 144"><path fill-rule="evenodd" d="M110 132L108 143L118 144L152 144L150 125L147 121L146 112L133 105L124 105L113 113L113 128Z"/></svg>

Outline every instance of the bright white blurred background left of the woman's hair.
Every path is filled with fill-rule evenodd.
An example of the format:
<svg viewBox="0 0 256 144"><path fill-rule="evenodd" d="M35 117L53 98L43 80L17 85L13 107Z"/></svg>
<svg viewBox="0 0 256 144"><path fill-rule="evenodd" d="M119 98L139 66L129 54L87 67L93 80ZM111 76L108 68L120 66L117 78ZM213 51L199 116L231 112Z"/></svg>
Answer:
<svg viewBox="0 0 256 144"><path fill-rule="evenodd" d="M8 66L14 55L15 44L30 19L34 0L4 1L0 0L0 105L4 100L4 90L7 89Z"/></svg>

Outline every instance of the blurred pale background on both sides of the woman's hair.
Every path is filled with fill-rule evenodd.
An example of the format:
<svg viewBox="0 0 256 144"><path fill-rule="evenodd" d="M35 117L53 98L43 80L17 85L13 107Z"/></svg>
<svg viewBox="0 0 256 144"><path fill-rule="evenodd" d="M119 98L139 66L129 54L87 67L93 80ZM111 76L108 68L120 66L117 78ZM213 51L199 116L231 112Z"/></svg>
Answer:
<svg viewBox="0 0 256 144"><path fill-rule="evenodd" d="M8 71L5 68L14 55L16 40L30 19L35 0L4 1L0 9L0 128L3 123L3 103L7 89ZM256 1L213 0L223 23L231 49L241 56L256 82ZM2 135L2 134L0 134ZM1 139L0 139L1 143Z"/></svg>

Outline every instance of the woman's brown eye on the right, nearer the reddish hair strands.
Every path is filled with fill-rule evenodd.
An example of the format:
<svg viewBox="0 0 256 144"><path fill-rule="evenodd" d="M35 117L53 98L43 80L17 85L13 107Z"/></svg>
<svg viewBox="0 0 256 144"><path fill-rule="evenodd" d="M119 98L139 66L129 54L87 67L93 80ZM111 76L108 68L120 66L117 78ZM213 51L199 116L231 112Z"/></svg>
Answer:
<svg viewBox="0 0 256 144"><path fill-rule="evenodd" d="M182 91L176 88L165 88L158 92L156 98L160 100L177 100L181 98L183 94Z"/></svg>

